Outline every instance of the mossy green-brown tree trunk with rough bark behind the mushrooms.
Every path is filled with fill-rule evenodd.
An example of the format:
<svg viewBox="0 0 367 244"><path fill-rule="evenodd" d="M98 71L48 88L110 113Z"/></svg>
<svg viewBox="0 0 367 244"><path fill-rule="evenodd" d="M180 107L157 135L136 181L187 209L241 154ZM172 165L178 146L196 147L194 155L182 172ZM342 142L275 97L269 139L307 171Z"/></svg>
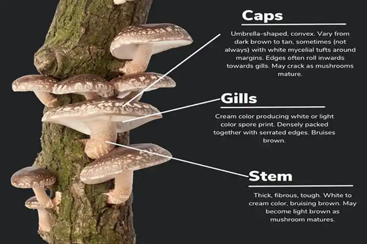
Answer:
<svg viewBox="0 0 367 244"><path fill-rule="evenodd" d="M151 3L60 0L46 41L34 57L37 70L60 80L78 74L115 77L123 61L113 59L109 44L122 28L145 23ZM57 97L58 105L83 100L79 95ZM111 182L80 182L80 171L91 162L78 142L82 138L86 135L62 125L43 124L42 152L34 164L55 173L58 182L51 191L60 191L62 201L59 213L53 213L51 231L39 234L50 244L135 244L132 199L121 205L107 205L101 193L113 187ZM119 135L118 142L129 143L129 134Z"/></svg>

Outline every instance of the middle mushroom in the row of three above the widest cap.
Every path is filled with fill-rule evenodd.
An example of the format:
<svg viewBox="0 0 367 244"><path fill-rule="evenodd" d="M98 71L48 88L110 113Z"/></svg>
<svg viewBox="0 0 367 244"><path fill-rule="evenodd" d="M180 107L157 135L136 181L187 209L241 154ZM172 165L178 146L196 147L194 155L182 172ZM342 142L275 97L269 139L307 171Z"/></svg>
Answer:
<svg viewBox="0 0 367 244"><path fill-rule="evenodd" d="M75 93L83 95L87 100L114 96L114 87L103 77L83 74L60 81L53 87L54 94Z"/></svg>

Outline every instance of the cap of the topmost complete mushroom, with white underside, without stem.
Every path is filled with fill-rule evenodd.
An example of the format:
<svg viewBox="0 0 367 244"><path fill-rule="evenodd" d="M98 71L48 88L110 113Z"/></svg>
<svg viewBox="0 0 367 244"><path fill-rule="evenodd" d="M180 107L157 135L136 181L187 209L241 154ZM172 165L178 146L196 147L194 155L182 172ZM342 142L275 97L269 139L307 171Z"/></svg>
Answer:
<svg viewBox="0 0 367 244"><path fill-rule="evenodd" d="M132 60L138 44L153 44L153 54L192 43L180 26L169 23L140 24L124 28L111 42L111 54L117 59Z"/></svg>

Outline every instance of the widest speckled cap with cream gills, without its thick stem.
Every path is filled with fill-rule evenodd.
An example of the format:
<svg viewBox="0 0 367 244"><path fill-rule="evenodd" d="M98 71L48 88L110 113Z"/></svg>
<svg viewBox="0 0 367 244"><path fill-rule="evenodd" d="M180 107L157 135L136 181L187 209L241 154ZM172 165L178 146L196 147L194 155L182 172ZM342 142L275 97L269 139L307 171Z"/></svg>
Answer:
<svg viewBox="0 0 367 244"><path fill-rule="evenodd" d="M86 135L91 135L87 122L103 120L116 122L117 132L120 133L162 118L161 114L157 114L160 111L150 104L130 102L124 106L127 102L114 98L99 98L72 103L48 110L42 117L42 122L62 124ZM143 116L149 117L124 122Z"/></svg>

